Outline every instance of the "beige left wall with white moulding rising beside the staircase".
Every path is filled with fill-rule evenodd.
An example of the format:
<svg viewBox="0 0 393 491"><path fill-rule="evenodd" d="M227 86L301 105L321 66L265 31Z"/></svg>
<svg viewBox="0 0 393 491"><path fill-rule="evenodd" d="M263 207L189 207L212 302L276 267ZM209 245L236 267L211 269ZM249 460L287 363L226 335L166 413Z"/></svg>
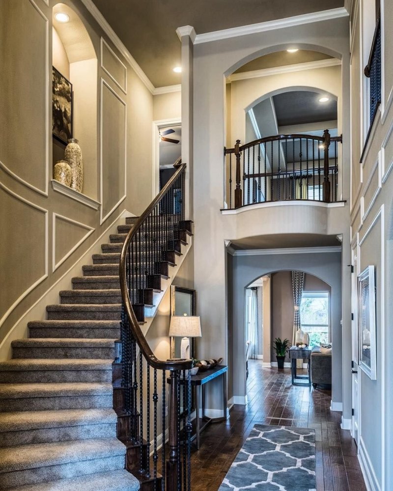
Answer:
<svg viewBox="0 0 393 491"><path fill-rule="evenodd" d="M95 85L88 89L92 104L90 115L95 115L88 119L88 125L94 129L93 136L81 139L85 158L83 192L103 202L104 210L101 212L101 205L95 210L52 189L52 7L56 2L49 3L48 7L38 1L35 7L30 0L0 1L0 65L8 67L0 74L2 98L7 101L0 112L1 230L7 237L0 246L1 285L3 290L7 286L6 294L0 299L2 357L10 355L12 339L27 334L23 314L83 255L123 209L139 214L152 198L153 96L82 2L73 0L65 3L79 15L98 59L95 67L90 67L90 73L95 70ZM126 93L100 66L101 36L117 56L107 54L113 58L111 63L117 67L123 64L126 68L127 86L123 87ZM107 58L107 68L111 69L111 63ZM21 76L26 73L28 77ZM121 71L114 75L118 73ZM82 78L75 88L77 85L81 85L81 90L86 88ZM102 106L101 84L106 87ZM83 101L76 96L75 102L75 110L78 109L81 116L86 111L81 108ZM75 119L76 137L77 132L83 132L81 128L87 121L87 115L79 116ZM121 140L120 135L123 135ZM101 180L104 176L107 177ZM54 213L82 224L86 235L93 229L55 271L53 257L56 255L56 262L68 247L71 250L75 246L72 237L79 241L81 233L80 225L69 222L67 228L57 227L55 234ZM70 233L70 228L75 233ZM45 311L41 316L45 318Z"/></svg>

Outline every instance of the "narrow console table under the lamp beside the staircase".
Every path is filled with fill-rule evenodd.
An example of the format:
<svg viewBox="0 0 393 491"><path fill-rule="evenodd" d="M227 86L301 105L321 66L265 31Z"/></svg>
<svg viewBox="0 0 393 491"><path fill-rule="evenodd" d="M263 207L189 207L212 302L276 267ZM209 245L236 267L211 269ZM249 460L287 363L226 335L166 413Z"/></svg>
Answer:
<svg viewBox="0 0 393 491"><path fill-rule="evenodd" d="M226 410L228 406L227 395L226 395L226 373L228 367L226 365L218 365L211 370L198 371L197 375L191 376L191 386L195 387L195 413L196 413L196 432L191 436L191 440L197 440L197 449L200 447L200 433L206 428L210 423L221 423L226 420ZM205 388L206 384L210 380L214 380L217 377L222 376L223 380L223 416L220 418L208 418L205 415ZM170 377L167 378L170 384ZM186 380L187 382L187 380ZM183 385L184 380L180 379L180 383ZM199 401L201 400L201 412L202 417L199 416ZM201 426L201 420L203 425Z"/></svg>

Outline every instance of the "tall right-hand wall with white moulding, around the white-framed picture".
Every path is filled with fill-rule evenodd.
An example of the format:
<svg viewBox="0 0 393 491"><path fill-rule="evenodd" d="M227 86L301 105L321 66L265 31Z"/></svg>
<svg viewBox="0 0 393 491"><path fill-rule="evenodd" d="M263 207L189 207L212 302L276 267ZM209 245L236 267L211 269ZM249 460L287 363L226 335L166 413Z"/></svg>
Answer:
<svg viewBox="0 0 393 491"><path fill-rule="evenodd" d="M389 26L393 21L393 4L381 0L382 25L382 105L377 113L371 136L365 147L367 129L359 87L367 84L363 74L368 52L362 47L368 42L367 26L361 22L367 2L356 2L352 16L351 40L351 131L352 131L352 263L356 264L352 289L356 312L356 276L368 265L376 271L376 347L377 376L371 380L358 370L360 386L359 455L370 489L388 491L393 482L393 448L387 436L393 418L393 369L391 347L392 326L392 186L393 174L393 39ZM365 104L368 101L365 98ZM357 324L354 323L353 359L357 361Z"/></svg>

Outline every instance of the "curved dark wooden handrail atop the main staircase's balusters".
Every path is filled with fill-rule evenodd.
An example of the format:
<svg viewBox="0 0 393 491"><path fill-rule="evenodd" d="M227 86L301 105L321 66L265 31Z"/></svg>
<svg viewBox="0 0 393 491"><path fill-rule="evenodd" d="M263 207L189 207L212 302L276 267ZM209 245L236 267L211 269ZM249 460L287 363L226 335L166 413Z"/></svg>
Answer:
<svg viewBox="0 0 393 491"><path fill-rule="evenodd" d="M145 219L150 215L150 213L154 210L157 204L162 200L162 198L167 194L173 182L179 176L179 174L186 168L186 164L181 163L181 159L178 159L173 166L176 168L176 172L172 175L172 177L168 180L167 184L163 187L163 189L158 193L158 195L154 198L154 200L147 206L147 208L143 211L143 213L138 218L134 227L128 232L127 237L124 241L123 248L120 254L120 289L121 296L124 304L125 314L128 318L129 325L133 331L133 335L138 343L140 351L143 353L146 358L148 364L153 368L158 370L189 370L192 368L193 361L192 360L159 360L153 351L150 349L143 333L140 329L140 325L138 319L135 315L135 312L131 305L130 296L128 294L127 289L127 278L126 278L126 257L128 246L130 245L132 239L135 237L137 231L140 229L140 226L143 224Z"/></svg>

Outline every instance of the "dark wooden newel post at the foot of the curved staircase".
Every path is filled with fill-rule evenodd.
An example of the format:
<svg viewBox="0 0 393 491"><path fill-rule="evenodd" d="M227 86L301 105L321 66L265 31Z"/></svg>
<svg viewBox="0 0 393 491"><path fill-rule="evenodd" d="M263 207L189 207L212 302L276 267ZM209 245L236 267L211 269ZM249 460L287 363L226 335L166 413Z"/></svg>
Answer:
<svg viewBox="0 0 393 491"><path fill-rule="evenodd" d="M169 384L169 460L167 462L167 490L176 491L180 473L178 468L178 440L180 435L177 433L177 421L179 408L177 406L177 381L178 372L170 372Z"/></svg>

